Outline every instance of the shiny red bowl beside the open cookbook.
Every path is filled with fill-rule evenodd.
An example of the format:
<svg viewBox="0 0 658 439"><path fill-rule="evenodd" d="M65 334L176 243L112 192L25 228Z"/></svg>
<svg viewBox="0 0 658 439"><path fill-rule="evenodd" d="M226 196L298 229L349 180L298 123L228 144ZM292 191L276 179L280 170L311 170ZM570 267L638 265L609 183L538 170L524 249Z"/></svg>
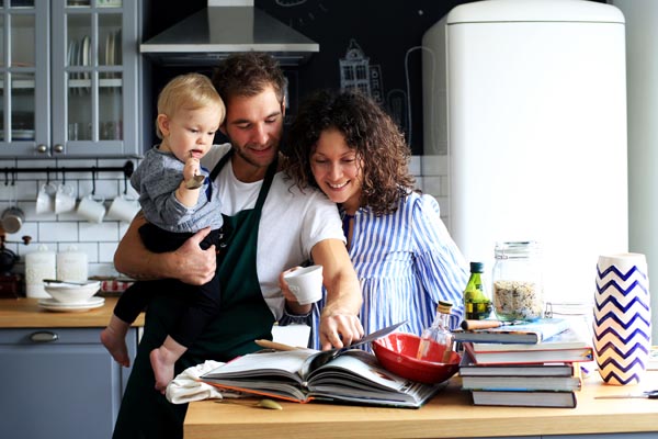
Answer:
<svg viewBox="0 0 658 439"><path fill-rule="evenodd" d="M413 334L394 333L373 341L373 350L379 363L389 372L421 383L441 383L460 370L462 357L451 352L447 362L443 360L445 348L432 342L428 352L431 360L416 358L420 337Z"/></svg>

